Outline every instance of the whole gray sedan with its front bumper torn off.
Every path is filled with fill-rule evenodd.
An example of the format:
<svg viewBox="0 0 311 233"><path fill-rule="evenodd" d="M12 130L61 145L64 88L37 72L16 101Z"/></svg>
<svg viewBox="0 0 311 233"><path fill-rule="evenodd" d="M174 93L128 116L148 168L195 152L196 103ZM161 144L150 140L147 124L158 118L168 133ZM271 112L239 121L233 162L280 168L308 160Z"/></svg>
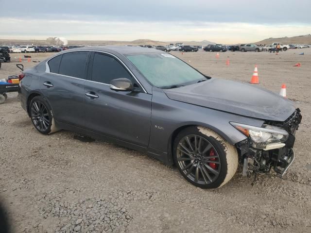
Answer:
<svg viewBox="0 0 311 233"><path fill-rule="evenodd" d="M239 163L256 177L271 168L284 175L294 160L301 115L291 101L208 77L164 51L66 50L19 79L38 132L69 130L143 151L201 188L224 185Z"/></svg>

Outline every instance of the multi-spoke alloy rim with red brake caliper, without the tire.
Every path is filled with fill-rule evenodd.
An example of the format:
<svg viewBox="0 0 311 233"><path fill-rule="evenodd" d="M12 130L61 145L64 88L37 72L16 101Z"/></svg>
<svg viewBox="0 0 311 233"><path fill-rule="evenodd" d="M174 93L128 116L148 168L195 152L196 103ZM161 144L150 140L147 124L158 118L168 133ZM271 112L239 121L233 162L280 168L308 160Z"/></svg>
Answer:
<svg viewBox="0 0 311 233"><path fill-rule="evenodd" d="M204 137L195 134L184 136L178 143L176 153L181 172L192 182L205 185L219 177L220 157Z"/></svg>

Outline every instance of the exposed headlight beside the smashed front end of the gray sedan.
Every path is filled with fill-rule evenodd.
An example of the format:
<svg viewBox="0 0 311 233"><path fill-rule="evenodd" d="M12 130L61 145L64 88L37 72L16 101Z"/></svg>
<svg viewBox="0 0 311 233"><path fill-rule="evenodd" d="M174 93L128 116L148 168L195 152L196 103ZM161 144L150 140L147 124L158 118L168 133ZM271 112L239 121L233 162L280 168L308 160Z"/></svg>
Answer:
<svg viewBox="0 0 311 233"><path fill-rule="evenodd" d="M264 149L268 144L283 143L288 138L287 131L276 126L256 127L235 122L230 122L230 124L249 137L255 143L255 145L253 144L254 147L260 149Z"/></svg>

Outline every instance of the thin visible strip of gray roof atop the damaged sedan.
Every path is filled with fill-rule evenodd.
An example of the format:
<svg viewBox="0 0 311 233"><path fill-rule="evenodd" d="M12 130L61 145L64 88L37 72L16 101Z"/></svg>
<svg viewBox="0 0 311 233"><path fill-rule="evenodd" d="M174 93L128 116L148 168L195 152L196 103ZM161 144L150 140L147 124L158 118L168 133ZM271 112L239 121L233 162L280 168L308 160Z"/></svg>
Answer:
<svg viewBox="0 0 311 233"><path fill-rule="evenodd" d="M117 52L122 55L125 54L133 54L133 53L163 53L163 51L150 49L148 47L140 47L140 46L89 46L89 47L80 47L80 48L73 48L66 51L78 51L78 50L99 50L99 51L106 51L106 52Z"/></svg>

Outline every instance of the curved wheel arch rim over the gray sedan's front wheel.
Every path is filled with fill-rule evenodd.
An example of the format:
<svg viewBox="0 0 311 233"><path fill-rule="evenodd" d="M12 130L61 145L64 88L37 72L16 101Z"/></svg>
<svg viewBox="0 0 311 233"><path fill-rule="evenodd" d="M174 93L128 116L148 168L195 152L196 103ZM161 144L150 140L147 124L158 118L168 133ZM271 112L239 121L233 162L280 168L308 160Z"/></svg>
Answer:
<svg viewBox="0 0 311 233"><path fill-rule="evenodd" d="M226 135L223 131L207 124L207 123L202 123L202 122L187 122L181 125L178 125L178 127L176 127L176 129L173 131L173 133L171 133L169 141L168 141L168 161L173 161L173 144L174 144L174 140L176 138L176 136L178 135L178 133L180 133L182 130L189 128L189 127L205 127L207 129L210 129L212 131L214 131L215 133L218 133L221 137L223 137L229 144L234 145L234 143L232 142L232 140L230 139L230 137L228 137L228 135ZM173 162L174 164L174 162Z"/></svg>

